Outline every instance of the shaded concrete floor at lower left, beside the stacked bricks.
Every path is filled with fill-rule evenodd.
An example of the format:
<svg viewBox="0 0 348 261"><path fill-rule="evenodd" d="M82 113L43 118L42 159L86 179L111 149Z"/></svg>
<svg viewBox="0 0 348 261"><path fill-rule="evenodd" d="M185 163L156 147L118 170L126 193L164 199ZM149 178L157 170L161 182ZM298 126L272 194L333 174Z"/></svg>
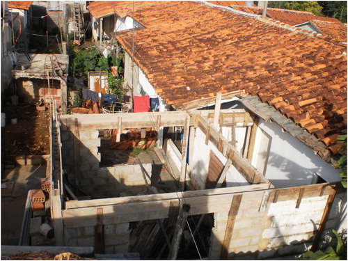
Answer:
<svg viewBox="0 0 348 261"><path fill-rule="evenodd" d="M18 245L26 196L29 190L41 188L43 177L46 165L16 166L1 173L8 185L1 189L1 245Z"/></svg>

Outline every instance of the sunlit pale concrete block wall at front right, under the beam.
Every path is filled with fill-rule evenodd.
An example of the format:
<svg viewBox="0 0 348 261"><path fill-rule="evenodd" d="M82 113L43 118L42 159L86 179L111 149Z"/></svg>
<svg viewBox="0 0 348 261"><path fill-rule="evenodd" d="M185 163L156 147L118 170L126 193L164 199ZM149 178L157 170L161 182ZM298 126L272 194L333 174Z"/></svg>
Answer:
<svg viewBox="0 0 348 261"><path fill-rule="evenodd" d="M268 203L267 208L260 211L262 196L263 191L255 191L242 198L228 259L267 259L303 253L312 244L329 198L302 198L299 208L296 208L297 199ZM228 221L226 210L214 213L209 259L221 258Z"/></svg>

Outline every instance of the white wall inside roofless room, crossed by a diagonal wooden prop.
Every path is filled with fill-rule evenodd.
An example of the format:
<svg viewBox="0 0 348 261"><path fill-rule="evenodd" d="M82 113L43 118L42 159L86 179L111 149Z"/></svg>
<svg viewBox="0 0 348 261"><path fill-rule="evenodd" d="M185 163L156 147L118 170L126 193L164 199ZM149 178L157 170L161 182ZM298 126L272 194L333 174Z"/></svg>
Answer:
<svg viewBox="0 0 348 261"><path fill-rule="evenodd" d="M226 164L226 157L219 152L211 141L209 141L208 145L205 145L205 134L199 128L196 128L195 142L193 145L193 159L190 159L190 164L193 164L191 171L191 182L195 189L205 189L205 179L209 166L210 150L214 152L223 165ZM230 166L228 174L226 175L226 182L227 187L249 185L249 183L246 182L244 177L234 166Z"/></svg>

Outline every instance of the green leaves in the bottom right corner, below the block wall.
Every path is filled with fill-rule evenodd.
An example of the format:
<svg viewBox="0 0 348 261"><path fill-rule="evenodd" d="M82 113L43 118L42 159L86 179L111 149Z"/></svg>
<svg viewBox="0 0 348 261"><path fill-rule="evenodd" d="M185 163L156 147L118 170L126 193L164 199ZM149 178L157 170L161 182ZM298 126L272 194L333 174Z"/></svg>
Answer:
<svg viewBox="0 0 348 261"><path fill-rule="evenodd" d="M347 252L345 251L345 244L343 244L340 235L335 230L332 230L337 239L335 248L329 246L326 251L308 251L304 253L300 259L303 260L347 260Z"/></svg>

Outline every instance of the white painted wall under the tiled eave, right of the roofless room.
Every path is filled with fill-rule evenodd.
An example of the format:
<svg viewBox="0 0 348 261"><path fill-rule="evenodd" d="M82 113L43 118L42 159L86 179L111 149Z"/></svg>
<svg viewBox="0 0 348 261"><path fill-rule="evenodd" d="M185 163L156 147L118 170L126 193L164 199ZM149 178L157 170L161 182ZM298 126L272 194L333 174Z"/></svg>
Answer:
<svg viewBox="0 0 348 261"><path fill-rule="evenodd" d="M282 128L276 123L260 119L258 127L271 136L265 177L274 187L312 184L315 173L326 182L341 180L338 169L315 155L313 150L289 133L282 132ZM261 132L260 129L258 132Z"/></svg>

